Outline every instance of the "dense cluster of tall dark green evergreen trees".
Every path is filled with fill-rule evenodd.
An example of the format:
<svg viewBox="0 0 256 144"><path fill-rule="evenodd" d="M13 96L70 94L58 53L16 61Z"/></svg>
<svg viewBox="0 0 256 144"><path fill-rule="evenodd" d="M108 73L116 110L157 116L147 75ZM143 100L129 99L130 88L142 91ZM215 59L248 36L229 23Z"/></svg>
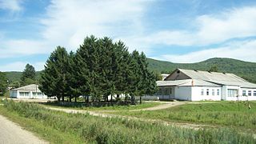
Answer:
<svg viewBox="0 0 256 144"><path fill-rule="evenodd" d="M39 89L47 96L89 97L93 102L120 98L121 94L134 96L154 94L157 74L148 70L146 55L110 38L86 37L78 50L68 53L58 46L46 61L39 80Z"/></svg>

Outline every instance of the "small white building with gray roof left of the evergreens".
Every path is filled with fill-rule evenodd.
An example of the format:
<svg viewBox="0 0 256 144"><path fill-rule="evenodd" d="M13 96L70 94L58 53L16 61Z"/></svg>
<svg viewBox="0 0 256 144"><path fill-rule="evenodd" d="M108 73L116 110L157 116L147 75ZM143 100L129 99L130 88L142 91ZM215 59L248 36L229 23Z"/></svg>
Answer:
<svg viewBox="0 0 256 144"><path fill-rule="evenodd" d="M28 86L22 86L17 89L10 90L10 98L47 98L41 90L38 89L38 85L31 84Z"/></svg>

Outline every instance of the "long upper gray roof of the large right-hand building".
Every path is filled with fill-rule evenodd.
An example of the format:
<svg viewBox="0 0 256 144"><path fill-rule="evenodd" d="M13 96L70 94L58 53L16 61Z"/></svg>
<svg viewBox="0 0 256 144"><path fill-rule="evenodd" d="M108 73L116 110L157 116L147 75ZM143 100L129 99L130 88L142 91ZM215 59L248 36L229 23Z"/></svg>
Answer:
<svg viewBox="0 0 256 144"><path fill-rule="evenodd" d="M256 84L247 82L245 79L240 78L235 74L208 72L208 71L201 71L201 70L184 70L184 69L178 69L178 70L186 74L191 79L199 79L205 82L211 82L218 85L256 88Z"/></svg>

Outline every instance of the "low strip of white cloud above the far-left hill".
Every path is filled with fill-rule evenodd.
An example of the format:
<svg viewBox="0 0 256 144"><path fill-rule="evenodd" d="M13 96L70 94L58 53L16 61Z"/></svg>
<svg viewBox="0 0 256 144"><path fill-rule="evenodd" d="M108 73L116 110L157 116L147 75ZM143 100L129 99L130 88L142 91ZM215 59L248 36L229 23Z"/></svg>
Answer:
<svg viewBox="0 0 256 144"><path fill-rule="evenodd" d="M36 71L43 70L45 62L11 62L0 66L0 71L23 71L27 63L34 66Z"/></svg>

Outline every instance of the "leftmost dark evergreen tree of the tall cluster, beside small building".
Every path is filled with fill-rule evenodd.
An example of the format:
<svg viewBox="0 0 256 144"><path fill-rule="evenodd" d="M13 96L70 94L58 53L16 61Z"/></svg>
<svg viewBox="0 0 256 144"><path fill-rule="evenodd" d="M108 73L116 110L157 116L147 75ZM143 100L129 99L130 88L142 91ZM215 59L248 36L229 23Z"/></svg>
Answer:
<svg viewBox="0 0 256 144"><path fill-rule="evenodd" d="M45 70L43 70L39 81L39 89L47 96L57 96L58 101L67 96L69 86L67 83L67 70L69 55L64 47L58 46L50 58L46 61Z"/></svg>

